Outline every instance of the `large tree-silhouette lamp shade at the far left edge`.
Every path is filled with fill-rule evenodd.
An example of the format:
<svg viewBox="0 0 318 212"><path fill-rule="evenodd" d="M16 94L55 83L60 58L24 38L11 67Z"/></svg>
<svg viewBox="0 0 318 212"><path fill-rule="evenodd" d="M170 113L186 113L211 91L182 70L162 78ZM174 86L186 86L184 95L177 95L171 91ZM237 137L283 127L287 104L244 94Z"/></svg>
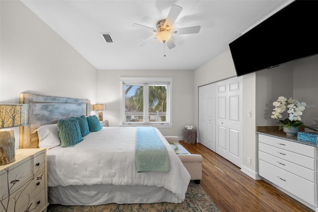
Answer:
<svg viewBox="0 0 318 212"><path fill-rule="evenodd" d="M0 128L22 126L29 123L29 105L0 104Z"/></svg>

